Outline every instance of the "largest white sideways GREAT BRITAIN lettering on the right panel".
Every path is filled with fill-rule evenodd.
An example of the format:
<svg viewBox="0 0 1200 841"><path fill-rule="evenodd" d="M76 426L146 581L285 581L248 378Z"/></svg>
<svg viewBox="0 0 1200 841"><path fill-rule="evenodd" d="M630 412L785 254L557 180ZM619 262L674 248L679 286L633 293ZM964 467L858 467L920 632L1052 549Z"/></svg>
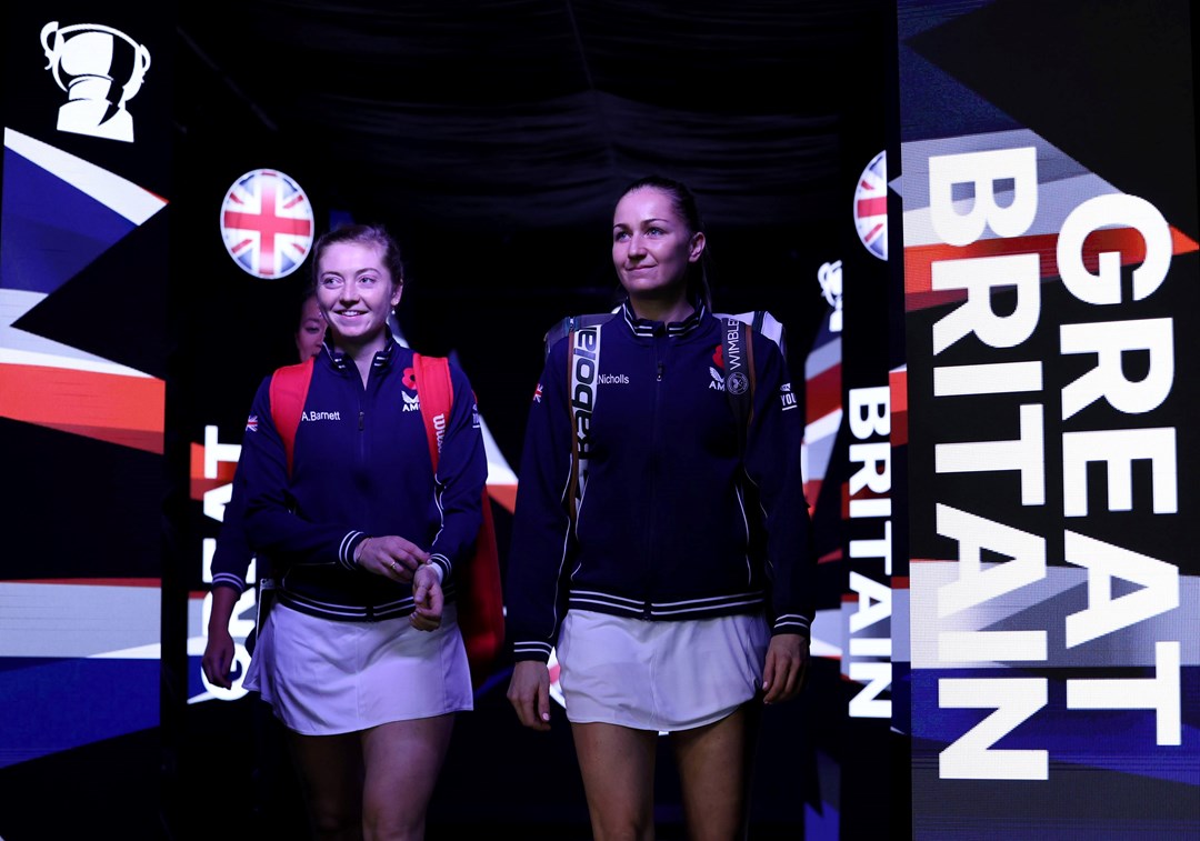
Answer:
<svg viewBox="0 0 1200 841"><path fill-rule="evenodd" d="M1022 236L1038 212L1037 151L1033 148L972 151L929 158L930 220L942 242L968 246L990 229L1000 240ZM1002 205L996 197L1003 182L1009 193ZM972 194L970 203L955 203L954 196ZM962 211L962 206L970 209ZM1132 230L1133 240L1145 246L1145 258L1122 277L1121 253L1102 251L1093 272L1085 264L1085 245L1102 229ZM937 683L937 704L942 709L992 710L968 731L958 735L940 757L942 779L1046 780L1049 751L996 747L1006 735L1037 716L1049 703L1049 679L1044 677L996 678L1002 663L1036 667L1050 665L1050 641L1062 638L1066 649L1106 635L1114 635L1159 617L1180 605L1177 566L1128 546L1117 546L1086 534L1088 524L1099 523L1106 512L1150 511L1151 516L1178 512L1178 469L1176 427L1134 422L1162 406L1175 384L1175 324L1170 317L1110 318L1108 320L1060 324L1058 353L1063 359L1013 359L1038 330L1043 312L1042 257L1037 253L1003 253L990 248L989 256L943 259L930 266L934 290L958 290L964 300L932 325L932 406L979 398L982 395L1012 395L998 404L1015 435L1003 439L961 440L961 429L937 426L935 434L956 440L940 440L934 446L937 476L972 474L979 482L1014 482L1018 495L1009 509L1009 522L996 522L962 510L956 500L936 500L936 531L954 541L955 579L936 589L937 621L934 663L948 667L990 666L989 677L942 678ZM1171 264L1171 232L1163 215L1145 199L1105 194L1087 199L1072 210L1057 236L1055 252L1062 287L1072 306L1112 307L1127 314L1130 304L1151 298L1164 283ZM1130 260L1134 262L1134 260ZM1004 293L997 310L995 295ZM1075 312L1074 308L1070 312ZM973 336L978 359L968 365L937 365L936 358ZM1033 356L1031 353L1030 356ZM1084 356L1094 365L1084 373ZM1136 361L1136 365L1133 362ZM1049 371L1048 371L1049 368ZM1050 372L1056 376L1051 376ZM1063 376L1064 371L1070 373ZM1130 374L1130 372L1136 372ZM910 380L912 384L916 380ZM1049 412L1052 392L1046 382L1060 383L1061 412ZM1051 386L1055 388L1055 386ZM997 406L989 403L988 406ZM1090 425L1104 428L1067 428L1068 419L1080 413ZM1055 416L1055 415L1061 415ZM1061 444L1062 469L1046 464L1048 447ZM882 458L860 450L852 461L863 463L852 479L882 481L878 468L868 469ZM1136 465L1136 473L1135 473ZM1148 468L1147 471L1144 468ZM1135 475L1138 480L1135 481ZM1148 475L1148 482L1142 479ZM859 476L863 476L859 480ZM1050 477L1061 476L1061 487L1048 487ZM991 487L991 485L989 485ZM1105 497L1105 510L1097 504ZM1015 503L1019 499L1019 504ZM1044 510L1061 500L1062 517L1073 528L1062 534L1063 569L1086 571L1086 601L1063 619L1063 627L1031 626L1045 612L1010 611L1003 629L961 630L954 620L972 611L1020 601L1026 588L1045 585L1048 540L1020 524L1030 510ZM853 505L853 503L852 503ZM853 511L852 511L853 512ZM1054 509L1051 509L1054 512ZM1039 522L1036 518L1031 522ZM1111 534L1111 530L1106 531ZM1128 541L1139 539L1128 534ZM1057 546L1057 542L1054 543ZM997 561L996 558L1006 560ZM1133 582L1136 588L1117 588L1115 581ZM864 588L865 589L865 588ZM1123 591L1123 595L1116 595ZM1043 619L1045 621L1045 619ZM1024 626L1022 626L1024 625ZM1152 678L1070 678L1066 680L1067 710L1152 710L1157 745L1180 745L1181 725L1181 642L1153 639Z"/></svg>

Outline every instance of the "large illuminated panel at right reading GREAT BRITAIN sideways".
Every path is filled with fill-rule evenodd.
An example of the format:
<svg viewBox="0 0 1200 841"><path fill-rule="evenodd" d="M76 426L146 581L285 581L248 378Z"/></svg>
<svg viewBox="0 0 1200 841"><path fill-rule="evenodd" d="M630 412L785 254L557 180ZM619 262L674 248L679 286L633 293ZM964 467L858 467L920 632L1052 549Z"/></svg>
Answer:
<svg viewBox="0 0 1200 841"><path fill-rule="evenodd" d="M1188 4L898 25L913 837L1194 837Z"/></svg>

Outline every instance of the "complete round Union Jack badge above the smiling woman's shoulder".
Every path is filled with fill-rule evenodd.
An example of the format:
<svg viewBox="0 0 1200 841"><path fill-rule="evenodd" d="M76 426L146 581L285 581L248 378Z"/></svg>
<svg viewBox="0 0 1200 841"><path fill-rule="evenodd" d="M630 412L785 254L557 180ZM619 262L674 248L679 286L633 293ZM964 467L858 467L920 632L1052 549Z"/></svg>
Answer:
<svg viewBox="0 0 1200 841"><path fill-rule="evenodd" d="M233 182L221 205L221 236L234 263L254 277L286 277L312 248L312 205L277 169L254 169Z"/></svg>

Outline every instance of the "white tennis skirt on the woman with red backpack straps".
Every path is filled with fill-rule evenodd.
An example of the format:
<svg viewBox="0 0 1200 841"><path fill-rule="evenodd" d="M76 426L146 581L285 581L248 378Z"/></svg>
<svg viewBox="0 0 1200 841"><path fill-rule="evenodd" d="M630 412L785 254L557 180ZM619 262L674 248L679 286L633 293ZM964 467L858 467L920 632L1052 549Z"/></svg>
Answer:
<svg viewBox="0 0 1200 841"><path fill-rule="evenodd" d="M334 621L276 603L259 630L244 686L289 729L332 735L474 707L456 608L436 631L408 617Z"/></svg>

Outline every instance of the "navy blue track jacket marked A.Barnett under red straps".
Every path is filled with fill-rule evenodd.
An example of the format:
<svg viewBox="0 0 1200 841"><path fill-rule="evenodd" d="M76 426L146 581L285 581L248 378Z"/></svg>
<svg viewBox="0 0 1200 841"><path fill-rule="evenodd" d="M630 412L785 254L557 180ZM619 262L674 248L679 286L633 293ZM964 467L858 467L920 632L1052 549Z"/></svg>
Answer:
<svg viewBox="0 0 1200 841"><path fill-rule="evenodd" d="M412 613L410 585L354 561L373 535L427 549L452 599L454 565L470 557L481 523L487 455L470 384L451 364L454 407L433 475L412 360L389 337L364 388L353 361L329 346L314 356L290 476L270 377L259 386L238 465L245 487L235 494L245 492L246 534L271 559L282 603L342 620Z"/></svg>

